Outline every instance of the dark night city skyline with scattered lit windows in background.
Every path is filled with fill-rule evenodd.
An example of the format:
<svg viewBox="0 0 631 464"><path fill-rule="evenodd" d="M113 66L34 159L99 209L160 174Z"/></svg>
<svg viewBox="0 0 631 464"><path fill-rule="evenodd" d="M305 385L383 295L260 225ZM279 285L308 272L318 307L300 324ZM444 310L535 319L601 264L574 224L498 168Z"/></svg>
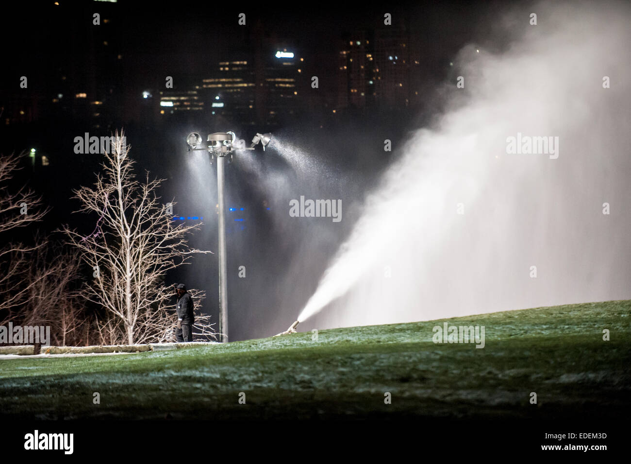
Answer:
<svg viewBox="0 0 631 464"><path fill-rule="evenodd" d="M158 114L168 116L171 110L179 109L158 108L160 92L182 97L186 92L208 88L211 84L204 80L225 78L221 62L249 63L245 65L249 75L239 78L254 87L255 95L245 97L249 101L238 104L239 108L230 107L234 98L227 98L221 102L221 110L213 110L209 109L213 102L205 101L208 96L198 92L195 100L203 101L199 105L204 107L202 112L232 117L232 124L245 117L245 124L269 124L270 128L307 112L324 117L346 109L418 108L434 83L449 71L450 57L441 57L439 62L433 53L427 53L428 41L420 37L427 32L410 25L410 15L387 13L391 18L386 18L363 12L353 16L357 21L347 22L340 21L339 15L329 15L325 24L292 35L291 27L278 32L276 26L295 21L284 21L280 15L269 22L269 16L257 13L248 13L242 25L239 14L233 14L231 25L228 13L224 13L225 21L204 29L203 18L190 25L169 22L150 10L142 12L139 30L129 30L128 24L134 22L130 16L138 16L139 11L124 2L100 1L81 6L49 3L37 11L39 21L35 21L33 37L24 40L23 51L13 51L16 60L9 59L10 72L3 74L3 125L71 117L89 118L93 129L107 130L132 121L158 122ZM352 13L357 15L357 11ZM146 44L142 32L156 18L162 23L153 23L152 44ZM50 23L59 25L59 33L50 32ZM68 23L71 27L64 29ZM471 27L462 23L452 28L461 30L462 35ZM314 35L317 32L320 35ZM37 36L54 40L40 49L41 37ZM215 40L218 36L220 40ZM451 40L455 52L464 35L438 37L445 43ZM213 46L201 51L208 42ZM289 51L301 61L276 57L279 51ZM178 61L179 66L174 66ZM45 63L43 69L34 66L35 62ZM293 73L281 69L281 63L290 64ZM317 88L312 86L314 76ZM29 80L27 88L20 87L23 77ZM283 84L269 85L271 79L282 78L292 80L288 82L295 94L277 92ZM148 102L142 102L142 97L153 102L149 119Z"/></svg>

